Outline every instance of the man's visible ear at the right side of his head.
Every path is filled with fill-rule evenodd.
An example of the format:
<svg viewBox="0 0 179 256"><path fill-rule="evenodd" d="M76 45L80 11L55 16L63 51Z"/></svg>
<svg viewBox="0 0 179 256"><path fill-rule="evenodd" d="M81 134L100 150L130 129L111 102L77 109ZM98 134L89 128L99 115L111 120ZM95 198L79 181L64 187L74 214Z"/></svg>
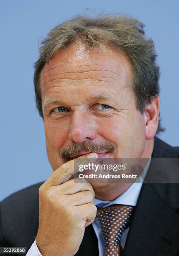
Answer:
<svg viewBox="0 0 179 256"><path fill-rule="evenodd" d="M153 98L151 103L146 105L144 120L146 125L146 139L152 139L157 131L159 124L159 108L160 108L160 100L159 96Z"/></svg>

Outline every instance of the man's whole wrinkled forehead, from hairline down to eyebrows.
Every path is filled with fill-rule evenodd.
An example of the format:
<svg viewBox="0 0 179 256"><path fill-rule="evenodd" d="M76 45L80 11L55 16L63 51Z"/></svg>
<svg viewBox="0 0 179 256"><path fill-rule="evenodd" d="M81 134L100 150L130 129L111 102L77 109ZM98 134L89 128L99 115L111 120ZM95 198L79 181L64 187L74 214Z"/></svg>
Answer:
<svg viewBox="0 0 179 256"><path fill-rule="evenodd" d="M56 54L41 72L43 98L57 90L80 90L95 86L102 89L112 85L124 87L133 80L129 59L120 50L103 46L102 49L86 49L77 42Z"/></svg>

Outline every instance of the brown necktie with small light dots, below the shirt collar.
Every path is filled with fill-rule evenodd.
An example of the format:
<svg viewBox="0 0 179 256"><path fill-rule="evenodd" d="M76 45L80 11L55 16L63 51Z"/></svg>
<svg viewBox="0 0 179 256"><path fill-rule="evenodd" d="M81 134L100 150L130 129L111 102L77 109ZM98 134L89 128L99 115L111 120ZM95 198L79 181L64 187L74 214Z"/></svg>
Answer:
<svg viewBox="0 0 179 256"><path fill-rule="evenodd" d="M129 226L133 210L134 206L129 205L110 205L97 209L97 218L105 238L105 256L121 255L120 238Z"/></svg>

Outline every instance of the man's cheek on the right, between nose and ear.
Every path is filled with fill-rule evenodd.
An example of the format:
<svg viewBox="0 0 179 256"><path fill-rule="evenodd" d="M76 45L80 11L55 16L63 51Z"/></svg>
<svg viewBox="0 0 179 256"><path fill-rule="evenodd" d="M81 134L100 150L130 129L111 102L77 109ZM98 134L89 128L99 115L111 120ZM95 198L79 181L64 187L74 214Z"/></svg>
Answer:
<svg viewBox="0 0 179 256"><path fill-rule="evenodd" d="M98 134L117 147L115 157L137 158L141 156L145 141L145 125L142 116L134 113L130 118L118 116L98 121Z"/></svg>

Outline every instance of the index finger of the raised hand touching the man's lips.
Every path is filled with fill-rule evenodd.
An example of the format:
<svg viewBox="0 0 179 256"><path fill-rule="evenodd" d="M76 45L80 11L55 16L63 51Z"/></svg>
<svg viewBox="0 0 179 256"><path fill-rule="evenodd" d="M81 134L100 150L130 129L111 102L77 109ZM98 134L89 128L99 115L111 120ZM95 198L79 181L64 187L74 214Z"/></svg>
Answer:
<svg viewBox="0 0 179 256"><path fill-rule="evenodd" d="M80 164L80 159L82 158L98 158L98 155L93 152L87 155L80 156L75 159L75 161L79 161ZM78 172L79 170L74 170L74 159L62 164L58 169L56 169L53 174L43 183L43 186L46 187L51 187L51 186L56 186L60 185L67 180L70 179L70 177L75 173Z"/></svg>

